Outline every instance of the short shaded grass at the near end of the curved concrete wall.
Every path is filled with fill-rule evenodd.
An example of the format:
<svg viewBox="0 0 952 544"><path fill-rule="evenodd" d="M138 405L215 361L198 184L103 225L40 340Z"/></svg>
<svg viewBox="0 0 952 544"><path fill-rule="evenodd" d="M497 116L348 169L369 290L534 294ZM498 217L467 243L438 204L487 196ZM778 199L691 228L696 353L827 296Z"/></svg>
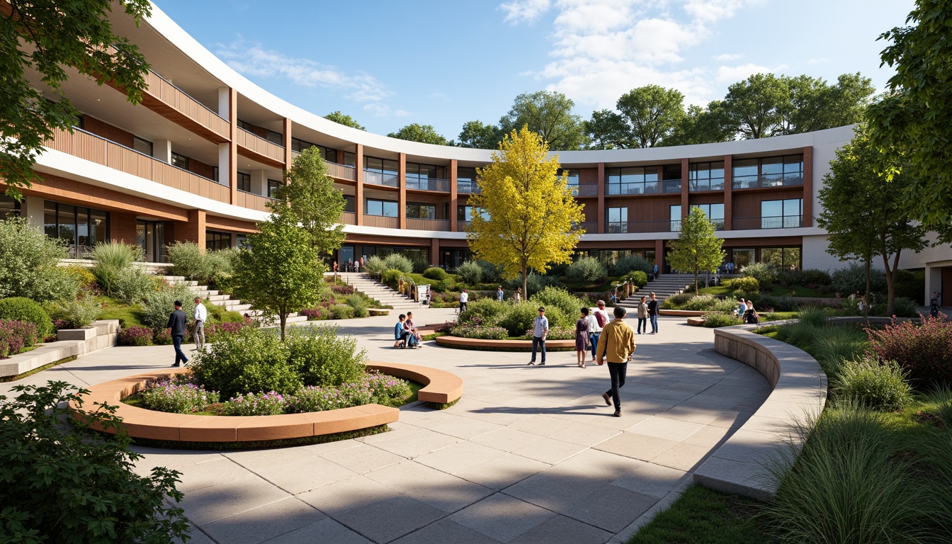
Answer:
<svg viewBox="0 0 952 544"><path fill-rule="evenodd" d="M657 514L628 544L760 544L770 542L752 519L759 503L697 484Z"/></svg>

